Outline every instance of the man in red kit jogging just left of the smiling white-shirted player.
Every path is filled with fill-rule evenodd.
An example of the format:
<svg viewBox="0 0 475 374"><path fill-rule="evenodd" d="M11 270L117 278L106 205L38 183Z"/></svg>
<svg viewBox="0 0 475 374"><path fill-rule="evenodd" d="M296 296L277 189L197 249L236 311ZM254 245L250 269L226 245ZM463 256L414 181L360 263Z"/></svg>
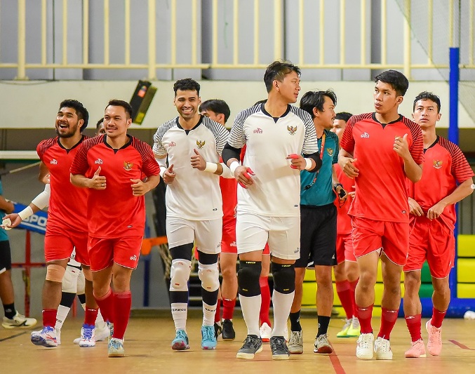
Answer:
<svg viewBox="0 0 475 374"><path fill-rule="evenodd" d="M110 100L104 114L106 134L83 142L70 169L72 184L88 191L94 296L104 318L114 321L109 357L125 356L123 335L131 312L131 274L138 265L145 229L144 195L160 181L152 148L127 135L131 116L128 102Z"/></svg>

